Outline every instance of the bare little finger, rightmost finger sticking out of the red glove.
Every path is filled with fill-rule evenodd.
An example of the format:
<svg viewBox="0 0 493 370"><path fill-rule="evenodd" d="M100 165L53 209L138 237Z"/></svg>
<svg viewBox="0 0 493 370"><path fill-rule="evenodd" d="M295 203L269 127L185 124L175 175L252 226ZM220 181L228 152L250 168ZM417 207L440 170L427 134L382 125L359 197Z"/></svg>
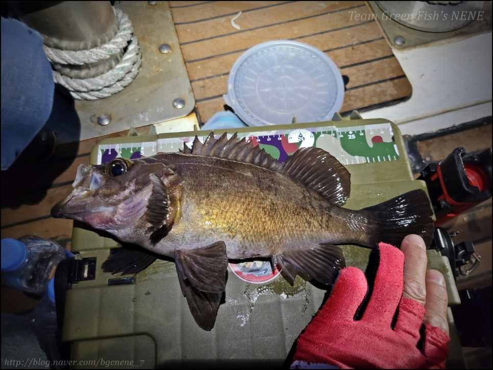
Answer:
<svg viewBox="0 0 493 370"><path fill-rule="evenodd" d="M449 334L447 306L445 279L437 270L429 270L426 273L426 313L423 324L436 326Z"/></svg>

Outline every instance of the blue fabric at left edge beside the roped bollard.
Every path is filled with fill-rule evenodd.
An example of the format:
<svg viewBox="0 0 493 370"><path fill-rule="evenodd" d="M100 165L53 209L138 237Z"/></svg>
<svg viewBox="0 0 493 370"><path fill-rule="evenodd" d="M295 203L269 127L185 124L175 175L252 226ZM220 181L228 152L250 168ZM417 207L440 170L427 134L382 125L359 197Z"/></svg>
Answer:
<svg viewBox="0 0 493 370"><path fill-rule="evenodd" d="M2 170L46 123L54 91L41 35L16 19L2 17Z"/></svg>

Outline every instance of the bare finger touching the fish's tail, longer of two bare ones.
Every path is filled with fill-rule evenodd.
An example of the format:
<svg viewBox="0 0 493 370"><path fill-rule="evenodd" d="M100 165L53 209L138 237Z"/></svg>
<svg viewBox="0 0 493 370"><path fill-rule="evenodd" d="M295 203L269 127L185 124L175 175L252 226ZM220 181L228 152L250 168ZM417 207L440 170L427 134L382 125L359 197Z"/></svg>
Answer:
<svg viewBox="0 0 493 370"><path fill-rule="evenodd" d="M422 305L426 302L426 245L418 235L407 235L401 243L404 253L404 291L402 297Z"/></svg>

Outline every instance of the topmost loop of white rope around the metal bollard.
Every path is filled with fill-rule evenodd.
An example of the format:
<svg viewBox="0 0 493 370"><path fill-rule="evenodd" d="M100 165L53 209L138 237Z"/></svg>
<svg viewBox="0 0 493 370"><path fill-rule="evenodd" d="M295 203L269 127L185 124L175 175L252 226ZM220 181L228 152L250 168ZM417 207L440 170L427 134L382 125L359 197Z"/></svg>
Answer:
<svg viewBox="0 0 493 370"><path fill-rule="evenodd" d="M60 50L43 45L44 52L53 63L83 65L108 59L127 46L134 29L127 14L113 7L118 23L118 32L106 44L87 50Z"/></svg>

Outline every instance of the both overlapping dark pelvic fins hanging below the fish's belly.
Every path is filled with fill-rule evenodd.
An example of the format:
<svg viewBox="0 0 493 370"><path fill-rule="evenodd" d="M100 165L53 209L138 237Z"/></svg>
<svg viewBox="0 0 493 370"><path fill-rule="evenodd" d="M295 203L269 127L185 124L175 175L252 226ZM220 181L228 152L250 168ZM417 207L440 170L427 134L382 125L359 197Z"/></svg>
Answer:
<svg viewBox="0 0 493 370"><path fill-rule="evenodd" d="M199 249L175 251L178 280L195 322L212 330L226 290L226 245L217 241Z"/></svg>

